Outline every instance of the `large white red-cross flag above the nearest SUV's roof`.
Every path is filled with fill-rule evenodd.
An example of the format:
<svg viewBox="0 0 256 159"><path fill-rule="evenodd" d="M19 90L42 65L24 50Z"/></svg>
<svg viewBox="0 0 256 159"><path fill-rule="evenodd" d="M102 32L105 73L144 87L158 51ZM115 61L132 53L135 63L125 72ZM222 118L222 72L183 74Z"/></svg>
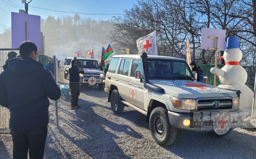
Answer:
<svg viewBox="0 0 256 159"><path fill-rule="evenodd" d="M143 52L146 52L148 55L158 55L155 31L136 40L136 44L139 50L139 55Z"/></svg>

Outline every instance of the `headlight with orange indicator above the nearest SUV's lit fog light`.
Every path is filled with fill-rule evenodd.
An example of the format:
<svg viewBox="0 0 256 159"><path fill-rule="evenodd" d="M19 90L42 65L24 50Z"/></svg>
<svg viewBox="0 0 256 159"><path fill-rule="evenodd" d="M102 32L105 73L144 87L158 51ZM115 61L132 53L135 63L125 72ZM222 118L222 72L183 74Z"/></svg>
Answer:
<svg viewBox="0 0 256 159"><path fill-rule="evenodd" d="M174 107L185 110L195 110L195 99L180 99L176 97L170 97Z"/></svg>

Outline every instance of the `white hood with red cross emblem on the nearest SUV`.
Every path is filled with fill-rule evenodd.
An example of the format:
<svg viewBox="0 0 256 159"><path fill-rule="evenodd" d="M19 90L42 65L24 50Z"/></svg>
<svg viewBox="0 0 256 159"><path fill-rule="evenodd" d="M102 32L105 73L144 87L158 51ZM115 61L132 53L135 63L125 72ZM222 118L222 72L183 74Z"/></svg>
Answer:
<svg viewBox="0 0 256 159"><path fill-rule="evenodd" d="M149 82L163 88L166 94L173 95L178 98L233 98L237 96L236 91L226 90L202 82L189 80L154 80Z"/></svg>

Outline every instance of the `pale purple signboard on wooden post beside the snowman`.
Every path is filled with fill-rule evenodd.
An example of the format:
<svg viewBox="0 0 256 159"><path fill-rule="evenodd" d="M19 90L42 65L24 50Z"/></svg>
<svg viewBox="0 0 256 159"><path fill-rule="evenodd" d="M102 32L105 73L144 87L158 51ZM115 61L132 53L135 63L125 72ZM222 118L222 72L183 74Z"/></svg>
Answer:
<svg viewBox="0 0 256 159"><path fill-rule="evenodd" d="M209 37L218 37L218 50L225 51L225 38L226 30L212 29L212 28L202 28L201 32L201 49L209 49L209 47L216 48L216 39L211 39Z"/></svg>

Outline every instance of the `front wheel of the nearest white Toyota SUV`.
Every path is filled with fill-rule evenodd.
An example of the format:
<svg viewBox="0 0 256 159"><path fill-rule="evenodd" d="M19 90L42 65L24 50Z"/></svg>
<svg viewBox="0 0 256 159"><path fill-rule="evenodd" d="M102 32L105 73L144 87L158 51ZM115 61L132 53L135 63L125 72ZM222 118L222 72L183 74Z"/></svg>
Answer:
<svg viewBox="0 0 256 159"><path fill-rule="evenodd" d="M156 107L149 117L149 128L154 140L161 146L171 145L177 137L177 128L170 125L167 110Z"/></svg>

